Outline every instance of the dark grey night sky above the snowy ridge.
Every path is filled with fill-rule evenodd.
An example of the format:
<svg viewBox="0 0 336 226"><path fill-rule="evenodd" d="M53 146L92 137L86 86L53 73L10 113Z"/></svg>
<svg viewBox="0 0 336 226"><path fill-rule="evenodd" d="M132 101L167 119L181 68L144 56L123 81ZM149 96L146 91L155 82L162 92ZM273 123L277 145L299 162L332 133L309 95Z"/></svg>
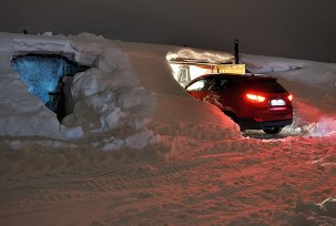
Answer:
<svg viewBox="0 0 336 226"><path fill-rule="evenodd" d="M336 63L335 0L7 0L0 31L110 39Z"/></svg>

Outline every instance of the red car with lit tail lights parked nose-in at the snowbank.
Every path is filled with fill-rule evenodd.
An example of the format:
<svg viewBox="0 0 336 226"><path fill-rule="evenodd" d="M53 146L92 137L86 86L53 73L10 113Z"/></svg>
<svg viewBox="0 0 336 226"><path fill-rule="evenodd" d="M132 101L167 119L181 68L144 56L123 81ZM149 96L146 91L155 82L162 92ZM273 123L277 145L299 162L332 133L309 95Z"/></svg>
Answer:
<svg viewBox="0 0 336 226"><path fill-rule="evenodd" d="M262 74L205 74L185 85L197 100L218 106L241 130L277 134L293 123L292 94Z"/></svg>

